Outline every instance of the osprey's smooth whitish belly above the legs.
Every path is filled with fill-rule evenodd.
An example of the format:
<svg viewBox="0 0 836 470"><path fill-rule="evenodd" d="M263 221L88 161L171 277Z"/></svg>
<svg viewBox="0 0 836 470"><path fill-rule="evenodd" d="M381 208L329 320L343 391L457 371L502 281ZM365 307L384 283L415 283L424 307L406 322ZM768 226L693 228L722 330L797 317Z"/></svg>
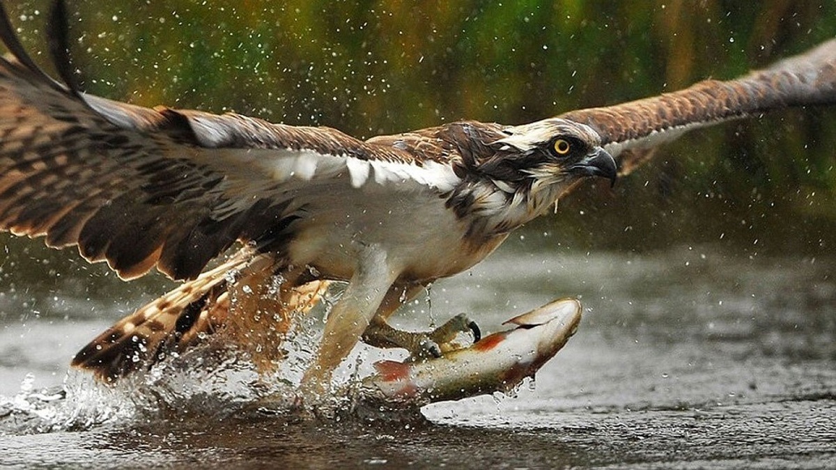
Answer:
<svg viewBox="0 0 836 470"><path fill-rule="evenodd" d="M422 192L323 197L308 213L288 253L291 263L311 265L324 278L348 280L359 252L372 247L385 251L400 280L427 282L470 268L504 240L467 238L467 222L444 199Z"/></svg>

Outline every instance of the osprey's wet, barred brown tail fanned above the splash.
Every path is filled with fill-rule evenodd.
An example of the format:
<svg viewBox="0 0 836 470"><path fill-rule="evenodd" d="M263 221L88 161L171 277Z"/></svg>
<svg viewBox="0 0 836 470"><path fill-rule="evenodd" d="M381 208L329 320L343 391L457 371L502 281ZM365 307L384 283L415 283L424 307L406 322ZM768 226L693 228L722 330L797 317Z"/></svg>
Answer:
<svg viewBox="0 0 836 470"><path fill-rule="evenodd" d="M84 346L71 365L114 382L223 330L233 344L252 349L252 359L265 370L279 359L278 348L269 346L280 344L293 315L313 308L327 287L326 281L271 282L280 268L283 264L271 254L239 253L120 319Z"/></svg>

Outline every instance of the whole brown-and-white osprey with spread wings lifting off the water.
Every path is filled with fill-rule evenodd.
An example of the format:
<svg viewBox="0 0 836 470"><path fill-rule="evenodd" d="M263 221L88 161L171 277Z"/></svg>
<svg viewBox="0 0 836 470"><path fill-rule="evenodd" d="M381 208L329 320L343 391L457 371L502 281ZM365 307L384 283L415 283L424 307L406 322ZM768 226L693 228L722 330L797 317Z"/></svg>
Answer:
<svg viewBox="0 0 836 470"><path fill-rule="evenodd" d="M358 140L325 127L87 95L70 65L64 18L58 2L48 31L60 80L38 68L0 18L10 53L0 59L0 229L76 246L121 278L156 268L184 281L79 351L73 365L104 380L217 330L258 345L253 351L269 349L288 315L308 309L332 280L348 284L303 391L323 391L361 339L443 354L451 332L477 331L469 319L427 333L395 330L387 319L550 212L579 181L614 181L619 164L629 171L688 130L836 102L831 40L740 79L623 105Z"/></svg>

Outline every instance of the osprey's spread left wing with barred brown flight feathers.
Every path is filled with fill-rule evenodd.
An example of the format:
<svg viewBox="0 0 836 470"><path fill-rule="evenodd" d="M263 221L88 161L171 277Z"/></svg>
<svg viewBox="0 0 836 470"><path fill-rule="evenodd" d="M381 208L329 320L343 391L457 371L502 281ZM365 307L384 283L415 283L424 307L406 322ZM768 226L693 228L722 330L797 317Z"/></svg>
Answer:
<svg viewBox="0 0 836 470"><path fill-rule="evenodd" d="M48 31L64 83L38 69L0 13L11 53L0 59L0 230L78 245L122 278L154 267L196 278L236 240L287 237L304 196L334 181L359 187L406 172L433 189L426 164L337 130L85 95L69 64L63 2Z"/></svg>

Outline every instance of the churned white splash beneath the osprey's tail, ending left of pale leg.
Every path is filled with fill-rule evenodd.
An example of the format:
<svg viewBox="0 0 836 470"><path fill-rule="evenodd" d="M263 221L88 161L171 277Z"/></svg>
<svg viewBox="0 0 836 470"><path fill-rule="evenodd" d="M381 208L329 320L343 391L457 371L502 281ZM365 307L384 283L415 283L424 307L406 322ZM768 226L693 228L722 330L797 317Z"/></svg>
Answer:
<svg viewBox="0 0 836 470"><path fill-rule="evenodd" d="M212 344L169 355L150 370L113 386L69 370L62 387L38 390L29 374L16 395L0 396L0 435L128 426L155 418L222 418L262 396L291 397L312 350L307 341L297 341L288 348L288 361L275 378L260 377L236 350ZM292 404L288 399L288 406Z"/></svg>

